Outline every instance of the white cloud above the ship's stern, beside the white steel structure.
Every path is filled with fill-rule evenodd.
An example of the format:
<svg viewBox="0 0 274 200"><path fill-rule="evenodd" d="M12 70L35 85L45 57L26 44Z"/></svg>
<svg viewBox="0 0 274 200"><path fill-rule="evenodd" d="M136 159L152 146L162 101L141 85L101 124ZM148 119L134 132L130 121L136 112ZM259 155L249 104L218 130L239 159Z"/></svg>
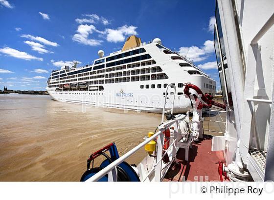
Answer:
<svg viewBox="0 0 274 200"><path fill-rule="evenodd" d="M199 62L206 60L207 57L214 52L214 43L212 40L206 40L204 46L197 47L180 47L179 54L185 56L189 60Z"/></svg>

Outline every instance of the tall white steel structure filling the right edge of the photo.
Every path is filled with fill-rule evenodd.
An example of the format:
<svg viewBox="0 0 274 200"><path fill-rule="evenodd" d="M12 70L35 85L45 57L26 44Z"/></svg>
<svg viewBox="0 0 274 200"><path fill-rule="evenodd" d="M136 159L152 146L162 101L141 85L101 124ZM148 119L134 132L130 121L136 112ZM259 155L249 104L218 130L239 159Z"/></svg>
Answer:
<svg viewBox="0 0 274 200"><path fill-rule="evenodd" d="M228 115L212 149L231 180L274 180L274 1L217 0L214 39Z"/></svg>

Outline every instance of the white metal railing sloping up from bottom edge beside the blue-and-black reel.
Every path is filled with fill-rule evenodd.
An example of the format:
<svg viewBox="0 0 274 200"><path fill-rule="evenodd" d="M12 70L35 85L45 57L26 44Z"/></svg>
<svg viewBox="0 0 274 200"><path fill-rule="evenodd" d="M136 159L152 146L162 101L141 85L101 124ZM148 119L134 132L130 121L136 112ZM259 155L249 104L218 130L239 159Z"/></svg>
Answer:
<svg viewBox="0 0 274 200"><path fill-rule="evenodd" d="M174 126L174 135L173 137L173 142L170 145L170 147L165 150L165 153L162 154L162 150L163 150L163 144L164 144L164 135L163 132L169 128L171 125L175 124ZM144 140L143 142L141 142L140 144L138 144L136 147L134 147L132 150L130 150L129 152L127 152L126 154L124 154L123 156L121 156L120 158L118 158L117 160L114 160L112 163L110 163L108 166L106 166L105 168L103 168L101 171L99 171L98 173L96 173L94 176L92 176L90 179L88 179L87 181L97 181L100 180L102 177L104 177L106 174L108 174L109 181L117 181L117 170L116 167L122 163L123 161L125 161L126 159L128 159L130 156L134 155L138 150L140 150L142 147L144 147L147 143L149 143L151 140L155 140L157 137L157 162L156 164L154 164L153 168L148 172L148 174L146 175L146 177L142 180L145 181L154 171L155 171L155 181L160 181L163 178L163 174L162 174L162 167L161 167L161 161L164 157L164 155L166 153L168 153L168 151L172 148L172 152L171 155L172 158L176 157L176 153L177 153L177 135L178 135L178 128L179 128L179 123L178 120L169 120L169 121L165 121L164 123L162 123L159 127L159 131L157 133L155 133L153 136L151 136L150 138ZM173 160L170 161L170 163ZM166 168L167 170L167 168Z"/></svg>

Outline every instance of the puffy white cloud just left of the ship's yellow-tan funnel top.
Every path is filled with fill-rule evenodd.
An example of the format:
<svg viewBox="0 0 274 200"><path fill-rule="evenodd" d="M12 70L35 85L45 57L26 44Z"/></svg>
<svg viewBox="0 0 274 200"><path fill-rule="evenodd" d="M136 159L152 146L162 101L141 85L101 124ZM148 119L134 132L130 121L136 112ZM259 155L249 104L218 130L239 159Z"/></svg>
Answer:
<svg viewBox="0 0 274 200"><path fill-rule="evenodd" d="M126 35L137 35L136 26L127 26L118 27L117 29L107 28L105 31L106 39L109 42L119 42L124 41Z"/></svg>

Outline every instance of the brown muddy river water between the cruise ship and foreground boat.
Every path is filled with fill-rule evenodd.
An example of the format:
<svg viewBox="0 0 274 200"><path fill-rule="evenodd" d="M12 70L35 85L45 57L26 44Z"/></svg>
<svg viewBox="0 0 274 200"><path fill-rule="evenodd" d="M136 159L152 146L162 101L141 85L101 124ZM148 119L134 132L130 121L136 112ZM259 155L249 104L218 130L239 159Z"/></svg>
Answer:
<svg viewBox="0 0 274 200"><path fill-rule="evenodd" d="M0 181L79 181L92 152L115 142L121 156L154 132L160 120L160 114L124 113L50 96L0 95ZM210 130L224 132L225 126L211 122ZM127 161L138 164L145 156L141 149Z"/></svg>

